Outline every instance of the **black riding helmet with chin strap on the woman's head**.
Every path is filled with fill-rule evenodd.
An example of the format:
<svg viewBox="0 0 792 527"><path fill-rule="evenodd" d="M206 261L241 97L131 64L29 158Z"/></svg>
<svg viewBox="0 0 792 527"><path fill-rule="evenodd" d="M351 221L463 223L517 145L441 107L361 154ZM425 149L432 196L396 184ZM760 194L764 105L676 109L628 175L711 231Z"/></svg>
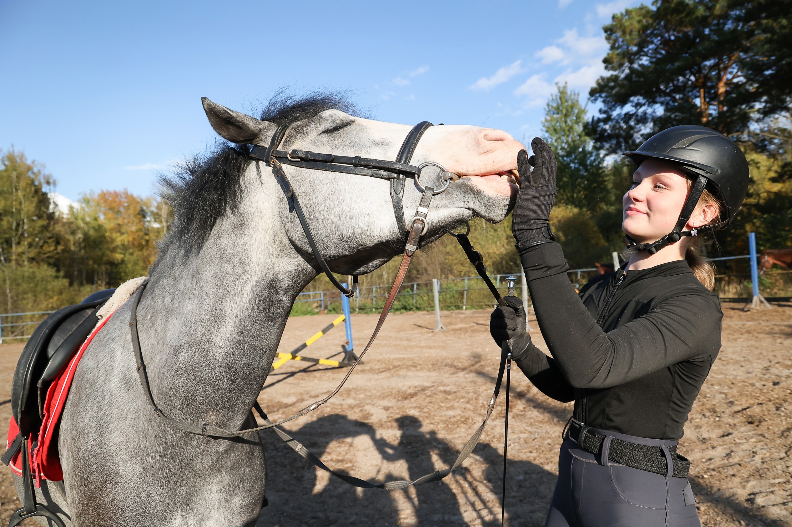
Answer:
<svg viewBox="0 0 792 527"><path fill-rule="evenodd" d="M668 128L650 137L638 150L622 155L630 157L636 165L641 165L645 159L657 159L695 178L695 184L672 232L651 244L638 244L627 237L630 247L623 253L624 257L639 251L654 254L666 245L679 241L680 237L695 236L696 229L682 229L705 188L723 205L722 221L712 228L725 228L740 210L748 190L748 161L742 150L737 143L711 128L690 125Z"/></svg>

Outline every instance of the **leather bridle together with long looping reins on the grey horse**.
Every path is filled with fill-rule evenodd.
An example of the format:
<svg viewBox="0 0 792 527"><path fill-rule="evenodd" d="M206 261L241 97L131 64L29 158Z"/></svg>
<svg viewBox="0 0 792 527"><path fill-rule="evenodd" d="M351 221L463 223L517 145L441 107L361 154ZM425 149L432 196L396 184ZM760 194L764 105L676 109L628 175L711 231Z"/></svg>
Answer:
<svg viewBox="0 0 792 527"><path fill-rule="evenodd" d="M314 236L310 231L310 226L308 225L307 219L305 214L303 214L303 208L299 204L299 199L295 194L294 188L291 185L286 173L284 172L283 165L291 165L291 166L299 166L306 169L318 169L318 170L326 170L330 172L337 172L337 173L350 173L356 174L360 176L371 176L377 177L379 179L386 179L390 180L390 195L394 202L394 214L396 215L397 223L400 226L400 229L404 227L404 229L400 230L400 232L407 232L406 237L406 244L404 253L402 255L402 264L398 268L398 272L396 274L396 278L394 279L393 285L390 287L390 293L388 294L385 305L383 307L382 313L379 314L379 319L377 320L377 324L374 328L374 331L371 333L371 337L368 339L364 350L360 353L358 358L356 358L355 362L352 363L352 366L349 367L345 376L341 379L341 382L337 385L332 392L330 392L327 396L323 397L320 400L314 401L313 404L308 405L305 408L302 408L300 411L287 417L285 419L277 420L275 423L272 423L265 412L261 409L259 404L256 402L253 405L253 409L257 411L257 413L261 416L261 419L265 420L265 425L261 427L254 427L249 428L246 430L225 430L220 427L215 427L210 423L187 423L185 421L181 421L179 419L173 419L162 411L162 409L158 408L157 404L154 402L154 396L151 394L150 384L148 381L148 375L146 371L146 365L143 362L143 351L140 347L140 338L138 332L138 320L137 320L137 309L140 302L140 298L143 296L143 290L145 290L148 280L144 281L135 291L135 294L132 297L132 304L131 304L131 313L130 313L130 332L131 332L131 342L132 342L132 349L135 353L135 363L137 367L137 372L139 375L140 385L143 387L143 393L146 396L146 400L148 404L153 409L154 414L158 417L164 419L166 423L169 423L171 426L176 427L180 430L184 430L185 432L189 432L190 434L198 434L203 435L206 437L211 438L236 438L240 436L246 436L249 434L257 433L261 430L267 430L268 428L274 428L276 433L287 442L287 444L295 450L295 452L299 453L301 456L305 457L307 460L311 461L315 464L318 468L322 468L327 472L332 473L334 476L339 477L341 480L344 480L347 483L355 485L356 487L365 487L365 488L385 488L388 490L394 490L404 487L409 487L415 483L425 483L429 481L437 481L442 480L445 476L451 473L452 470L459 467L460 464L470 455L473 451L475 445L478 443L478 438L481 437L482 431L484 427L489 421L489 416L492 415L493 409L495 408L495 402L497 400L497 396L501 390L501 381L503 379L503 375L506 369L506 365L508 362L508 353L504 351L501 353L501 363L497 373L497 380L495 382L495 389L493 391L493 396L489 400L489 404L487 405L486 415L484 422L481 424L480 427L474 432L473 436L470 437L468 442L466 442L465 446L463 447L462 451L459 453L455 463L450 468L445 468L444 470L432 472L427 474L426 476L422 476L417 480L399 480L399 481L390 481L388 483L370 483L365 480L360 480L354 476L348 476L346 474L335 472L326 467L325 464L322 463L315 457L314 454L310 453L308 449L305 448L302 444L297 442L295 439L291 438L291 436L287 435L284 431L279 430L277 427L280 424L287 423L293 419L297 419L302 417L303 415L307 415L311 411L316 410L322 404L326 404L330 399L333 398L345 385L348 378L352 375L352 372L355 370L356 366L361 362L364 355L368 351L368 348L371 347L371 344L374 343L375 339L379 335L379 330L383 327L386 317L388 313L390 313L390 308L393 306L396 296L398 294L399 289L402 287L402 282L404 282L405 276L407 274L407 269L409 268L410 260L412 260L413 254L417 251L419 241L421 236L424 235L428 230L428 222L427 222L427 214L428 214L428 207L432 202L432 196L439 194L440 192L444 191L448 188L449 180L451 179L450 173L448 173L442 165L439 165L433 161L424 163L423 165L416 167L414 165L409 165L409 161L413 156L413 153L417 147L418 142L421 139L421 135L431 127L432 123L428 123L428 121L424 121L418 123L413 129L409 132L407 137L405 138L402 148L399 150L397 161L383 161L379 159L368 159L365 157L347 157L347 156L336 156L333 154L317 154L314 152L309 152L305 150L290 150L288 152L282 150L276 150L277 146L280 145L280 142L283 141L284 135L286 135L287 125L280 125L276 130L275 134L272 136L272 140L268 147L263 146L253 146L250 152L250 157L253 157L257 161L264 161L266 165L271 167L272 175L275 177L278 184L280 184L280 188L284 191L284 195L286 196L287 202L290 205L290 210L294 210L295 214L297 214L297 218L299 218L300 224L303 226L303 232L305 233L308 243L310 245L311 251L314 253L314 258L317 260L319 267L322 268L322 271L328 276L333 285L337 287L343 294L348 297L351 297L355 294L357 288L357 276L354 277L354 282L352 288L345 288L341 286L341 283L337 281L337 279L333 276L332 272L330 271L325 259L322 257L321 253L318 250L318 246L314 241ZM445 180L445 185L440 190L435 190L432 187L424 186L420 182L421 176L421 169L426 165L434 165L439 167L444 171L443 179ZM404 214L403 214L403 206L402 206L402 197L404 195L404 183L406 177L413 177L416 180L417 186L421 188L423 191L423 195L421 195L421 201L418 203L418 207L415 211L415 214L412 218L409 219L409 222L405 221ZM467 234L470 233L470 226L468 226L466 233L451 233L458 241L459 245L463 247L463 250L466 253L466 256L470 260L470 263L474 265L476 271L478 271L479 275L481 275L482 279L484 279L485 283L487 284L489 290L493 293L494 298L498 302L498 304L503 305L503 301L501 299L501 295L498 293L497 288L493 285L491 279L486 273L486 267L483 263L482 255L475 251L473 245L470 244L470 241L467 237Z"/></svg>

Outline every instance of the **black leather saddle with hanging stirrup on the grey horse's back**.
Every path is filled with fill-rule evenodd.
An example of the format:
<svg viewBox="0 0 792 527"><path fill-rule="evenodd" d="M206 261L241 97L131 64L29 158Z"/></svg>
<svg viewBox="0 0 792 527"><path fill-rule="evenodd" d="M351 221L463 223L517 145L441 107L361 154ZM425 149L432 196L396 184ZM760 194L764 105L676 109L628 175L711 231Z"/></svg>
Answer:
<svg viewBox="0 0 792 527"><path fill-rule="evenodd" d="M115 289L97 291L80 304L58 309L38 325L22 350L11 384L11 413L19 434L9 445L2 462L9 464L22 448L25 506L13 514L10 527L32 516L54 517L46 507L36 504L36 495L32 493L28 440L31 433L40 430L44 419L44 397L52 379L63 371L85 342L99 321L97 311L115 292ZM59 524L59 519L54 518Z"/></svg>

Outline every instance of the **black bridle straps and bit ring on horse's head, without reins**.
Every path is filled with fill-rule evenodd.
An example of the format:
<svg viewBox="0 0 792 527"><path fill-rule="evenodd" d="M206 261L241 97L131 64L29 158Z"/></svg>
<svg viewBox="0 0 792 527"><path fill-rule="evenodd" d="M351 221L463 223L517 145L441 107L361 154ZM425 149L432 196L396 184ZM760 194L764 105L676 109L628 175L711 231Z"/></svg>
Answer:
<svg viewBox="0 0 792 527"><path fill-rule="evenodd" d="M413 129L409 131L404 142L402 142L402 148L398 151L396 161L370 159L360 156L352 157L338 156L335 154L318 154L307 150L289 150L288 152L277 150L277 147L283 142L286 131L288 130L287 124L281 124L280 127L278 127L275 134L272 135L269 146L253 145L250 149L250 157L258 161L264 161L267 166L272 167L272 174L275 176L278 184L280 184L280 188L284 191L284 195L286 195L286 199L289 202L289 210L294 210L295 214L297 214L300 225L303 226L303 232L308 239L310 250L314 253L314 258L318 262L319 267L325 275L327 275L327 278L333 286L347 297L353 297L355 295L355 291L357 290L357 276L353 277L351 288L342 286L341 282L338 282L336 277L333 276L326 260L322 257L322 253L319 252L314 235L311 233L310 226L303 213L303 207L300 205L294 187L291 185L291 182L284 172L284 165L297 166L303 169L355 174L356 176L376 177L380 180L390 180L390 199L394 204L394 216L396 217L399 233L402 233L403 237L405 233L413 228L415 222L421 222L421 235L424 235L428 230L426 215L428 214L429 201L431 201L432 195L440 194L440 192L447 189L451 181L451 174L448 173L443 165L434 161L429 161L420 166L409 165L409 161L413 158L413 153L418 146L418 142L421 141L421 136L424 135L424 132L431 126L433 126L432 123L428 121L417 123ZM425 187L421 184L421 170L428 165L436 166L442 171L441 177L445 181L445 185L443 188L440 188L440 190L435 190L432 187ZM403 205L406 177L413 177L415 179L418 188L421 188L421 191L424 193L421 203L426 202L424 206L419 206L417 208L415 215L409 220L409 225L408 222L405 221ZM427 195L428 189L431 189L431 191ZM415 242L415 244L410 244L408 241L406 248L410 249L411 252L415 252L417 249L417 240ZM412 256L412 253L410 256Z"/></svg>

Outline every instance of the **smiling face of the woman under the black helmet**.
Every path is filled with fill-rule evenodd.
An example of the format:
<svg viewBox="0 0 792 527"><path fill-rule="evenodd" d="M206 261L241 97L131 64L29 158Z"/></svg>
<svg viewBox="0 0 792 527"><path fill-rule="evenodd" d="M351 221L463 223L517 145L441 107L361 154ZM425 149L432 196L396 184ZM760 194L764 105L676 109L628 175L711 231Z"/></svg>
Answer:
<svg viewBox="0 0 792 527"><path fill-rule="evenodd" d="M643 161L622 199L622 230L638 243L664 237L680 218L688 190L687 177L679 169L654 159Z"/></svg>

